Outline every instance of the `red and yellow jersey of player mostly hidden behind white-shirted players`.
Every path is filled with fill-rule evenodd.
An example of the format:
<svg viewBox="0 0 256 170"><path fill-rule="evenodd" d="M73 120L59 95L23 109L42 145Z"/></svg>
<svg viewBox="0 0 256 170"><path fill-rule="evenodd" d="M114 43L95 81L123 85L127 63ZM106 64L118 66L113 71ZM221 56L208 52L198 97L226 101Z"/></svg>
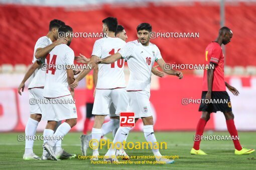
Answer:
<svg viewBox="0 0 256 170"><path fill-rule="evenodd" d="M93 83L93 76L92 76L93 70L91 70L86 76L86 102L87 103L93 103L94 97L93 97L93 91L94 91L94 83Z"/></svg>

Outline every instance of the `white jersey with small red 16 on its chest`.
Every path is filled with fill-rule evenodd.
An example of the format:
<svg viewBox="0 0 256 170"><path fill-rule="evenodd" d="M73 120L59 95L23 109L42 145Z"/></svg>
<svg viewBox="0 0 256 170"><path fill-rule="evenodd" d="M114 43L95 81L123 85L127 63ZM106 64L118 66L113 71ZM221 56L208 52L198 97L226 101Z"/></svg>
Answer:
<svg viewBox="0 0 256 170"><path fill-rule="evenodd" d="M119 51L122 58L127 59L130 79L127 90L145 90L150 92L151 69L154 62L162 58L157 45L143 45L139 40L127 42Z"/></svg>

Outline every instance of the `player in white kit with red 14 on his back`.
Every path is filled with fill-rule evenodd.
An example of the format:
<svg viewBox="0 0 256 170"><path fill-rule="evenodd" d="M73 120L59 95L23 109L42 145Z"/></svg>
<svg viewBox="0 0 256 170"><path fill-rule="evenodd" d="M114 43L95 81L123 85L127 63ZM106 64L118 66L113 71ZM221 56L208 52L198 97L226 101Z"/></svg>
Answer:
<svg viewBox="0 0 256 170"><path fill-rule="evenodd" d="M46 63L48 68L46 70L44 97L53 101L45 104L46 112L42 119L52 120L66 120L63 122L53 134L53 137L43 144L44 149L49 153L52 159L57 160L56 150L54 146L60 136L66 135L69 130L76 125L77 112L73 101L74 89L68 89L68 85L74 81L74 74L71 65L74 64L74 51L69 47L72 40L72 28L68 25L59 28L59 32L64 33L64 37L68 40L67 44L60 44L55 46L47 55ZM48 111L48 110L54 110ZM54 130L55 122L48 121L46 129Z"/></svg>

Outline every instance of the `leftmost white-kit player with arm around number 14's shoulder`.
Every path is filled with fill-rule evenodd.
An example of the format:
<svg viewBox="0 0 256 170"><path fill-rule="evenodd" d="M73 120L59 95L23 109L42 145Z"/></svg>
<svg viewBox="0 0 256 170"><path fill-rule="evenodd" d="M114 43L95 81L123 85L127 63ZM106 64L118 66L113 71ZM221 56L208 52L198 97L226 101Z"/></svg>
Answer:
<svg viewBox="0 0 256 170"><path fill-rule="evenodd" d="M45 84L45 71L41 69L41 61L44 57L52 50L56 45L61 43L67 43L66 39L58 39L58 29L59 27L65 25L61 20L54 19L50 21L49 32L46 36L40 37L34 48L34 56L32 60L32 65L26 72L24 79L18 87L18 92L22 95L21 90L24 91L25 82L31 76L31 81L28 86L29 88L29 98L40 99L43 98L43 88ZM55 41L56 40L56 41ZM55 42L53 42L55 41ZM39 59L42 58L42 59ZM25 134L26 136L33 136L36 134L36 129L39 121L41 120L43 114L43 104L41 103L30 103L30 118L26 124ZM33 152L34 140L26 139L25 153L23 159L41 159Z"/></svg>

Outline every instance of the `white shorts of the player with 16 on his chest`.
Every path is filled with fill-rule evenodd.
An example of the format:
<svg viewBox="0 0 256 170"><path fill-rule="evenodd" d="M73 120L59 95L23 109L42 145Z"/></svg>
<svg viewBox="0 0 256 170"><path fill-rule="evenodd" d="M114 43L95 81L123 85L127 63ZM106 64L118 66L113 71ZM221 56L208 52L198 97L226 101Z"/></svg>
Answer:
<svg viewBox="0 0 256 170"><path fill-rule="evenodd" d="M150 92L142 91L128 91L129 107L127 111L134 112L135 118L152 116L152 109L150 106Z"/></svg>

